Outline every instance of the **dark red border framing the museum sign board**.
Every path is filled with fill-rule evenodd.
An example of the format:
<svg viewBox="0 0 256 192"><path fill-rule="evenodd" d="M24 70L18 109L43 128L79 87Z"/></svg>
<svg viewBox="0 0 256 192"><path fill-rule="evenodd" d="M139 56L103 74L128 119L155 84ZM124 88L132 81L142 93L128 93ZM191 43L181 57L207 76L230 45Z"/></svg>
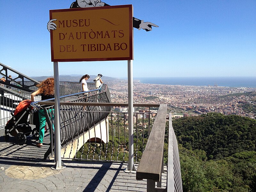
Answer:
<svg viewBox="0 0 256 192"><path fill-rule="evenodd" d="M98 10L98 9L116 9L116 8L129 8L129 45L130 45L130 56L129 57L113 57L113 58L89 58L89 59L54 59L53 53L53 35L52 30L50 30L51 35L51 57L52 62L76 62L76 61L116 61L116 60L133 60L133 27L132 27L132 17L133 17L133 7L132 5L115 5L115 6L103 6L103 7L88 7L88 8L69 8L69 9L56 9L50 10L50 20L52 18L52 13L54 12L69 12L69 11L83 11L83 10Z"/></svg>

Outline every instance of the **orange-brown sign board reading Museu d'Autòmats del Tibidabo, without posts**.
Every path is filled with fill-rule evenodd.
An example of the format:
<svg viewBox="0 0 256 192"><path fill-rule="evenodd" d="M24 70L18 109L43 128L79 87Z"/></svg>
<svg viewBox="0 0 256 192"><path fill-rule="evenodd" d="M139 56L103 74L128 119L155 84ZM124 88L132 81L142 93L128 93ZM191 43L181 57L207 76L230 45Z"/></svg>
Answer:
<svg viewBox="0 0 256 192"><path fill-rule="evenodd" d="M133 60L132 5L50 10L52 61Z"/></svg>

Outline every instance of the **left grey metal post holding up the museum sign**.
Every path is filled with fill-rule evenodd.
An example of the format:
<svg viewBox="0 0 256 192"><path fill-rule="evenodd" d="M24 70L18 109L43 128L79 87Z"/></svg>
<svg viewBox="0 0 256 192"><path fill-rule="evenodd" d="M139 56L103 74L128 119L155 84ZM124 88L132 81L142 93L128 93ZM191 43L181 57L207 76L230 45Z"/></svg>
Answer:
<svg viewBox="0 0 256 192"><path fill-rule="evenodd" d="M61 161L61 143L60 143L60 80L59 80L59 66L58 62L53 62L54 70L54 95L55 95L55 106L54 106L54 149L55 149L55 165L52 167L54 170L64 169L66 166Z"/></svg>

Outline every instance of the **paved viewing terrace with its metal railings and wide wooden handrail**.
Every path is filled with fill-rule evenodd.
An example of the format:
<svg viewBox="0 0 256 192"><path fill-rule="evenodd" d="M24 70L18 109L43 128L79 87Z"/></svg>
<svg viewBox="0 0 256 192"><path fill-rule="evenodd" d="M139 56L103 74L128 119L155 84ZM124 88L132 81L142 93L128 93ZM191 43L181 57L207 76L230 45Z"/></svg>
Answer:
<svg viewBox="0 0 256 192"><path fill-rule="evenodd" d="M99 89L89 84L89 89L80 92L79 83L60 83L61 159L66 166L61 170L51 169L56 161L49 134L53 114L47 118L42 148L36 147L35 134L19 145L16 137L4 136L4 126L10 112L30 93L2 94L0 191L182 191L178 145L167 105L133 104L145 112L133 113L133 143L129 143L128 113L112 110L128 104L111 103L106 84ZM44 108L46 104L51 107ZM53 105L40 96L34 103L45 112ZM127 170L130 147L137 171Z"/></svg>

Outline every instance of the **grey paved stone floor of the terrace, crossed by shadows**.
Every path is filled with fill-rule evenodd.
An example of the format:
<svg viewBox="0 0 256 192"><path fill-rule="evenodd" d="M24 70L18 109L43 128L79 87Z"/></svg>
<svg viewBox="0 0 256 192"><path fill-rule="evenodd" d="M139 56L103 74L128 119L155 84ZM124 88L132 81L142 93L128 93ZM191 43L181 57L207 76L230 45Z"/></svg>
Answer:
<svg viewBox="0 0 256 192"><path fill-rule="evenodd" d="M0 129L0 192L44 191L146 191L146 180L136 180L135 173L124 172L127 164L111 162L63 161L65 169L52 170L54 162L43 156L49 147L49 135L44 146L28 137L26 144L17 145L15 138L5 142ZM137 165L135 165L137 167ZM166 173L163 175L166 185Z"/></svg>

